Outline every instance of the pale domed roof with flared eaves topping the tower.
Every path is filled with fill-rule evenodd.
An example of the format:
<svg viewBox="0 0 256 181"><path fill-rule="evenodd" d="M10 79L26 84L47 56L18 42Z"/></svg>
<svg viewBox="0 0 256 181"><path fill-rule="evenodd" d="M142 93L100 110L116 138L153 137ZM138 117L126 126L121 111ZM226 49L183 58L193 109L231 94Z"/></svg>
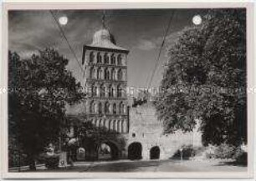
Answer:
<svg viewBox="0 0 256 181"><path fill-rule="evenodd" d="M111 48L118 50L126 50L115 45L115 38L110 34L107 29L100 29L97 31L93 37L93 43L90 44L91 47L98 48Z"/></svg>

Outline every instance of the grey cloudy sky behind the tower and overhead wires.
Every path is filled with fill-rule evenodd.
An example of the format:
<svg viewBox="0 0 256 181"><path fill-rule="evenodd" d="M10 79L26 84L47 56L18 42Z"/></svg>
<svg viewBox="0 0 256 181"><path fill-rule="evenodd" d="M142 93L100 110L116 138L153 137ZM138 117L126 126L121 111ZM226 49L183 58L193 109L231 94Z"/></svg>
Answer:
<svg viewBox="0 0 256 181"><path fill-rule="evenodd" d="M192 18L203 15L202 9L119 9L105 10L105 24L114 35L116 43L130 50L128 54L128 86L146 88L156 64L162 39L170 17L171 27L161 52L151 87L161 82L166 52L169 43L173 43L178 33L185 27L193 26ZM69 43L82 63L84 44L92 43L93 35L102 28L103 10L54 10L56 18L66 16L69 21L62 26ZM68 69L78 77L79 65L74 59L68 44L64 41L54 18L46 10L9 11L8 46L22 58L29 58L39 49L56 48L69 59Z"/></svg>

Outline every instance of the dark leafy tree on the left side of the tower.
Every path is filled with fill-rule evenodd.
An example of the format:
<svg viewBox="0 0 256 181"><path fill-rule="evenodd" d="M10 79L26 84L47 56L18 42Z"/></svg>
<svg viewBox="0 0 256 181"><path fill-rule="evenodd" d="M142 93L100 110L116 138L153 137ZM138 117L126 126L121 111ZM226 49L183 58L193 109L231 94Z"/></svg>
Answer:
<svg viewBox="0 0 256 181"><path fill-rule="evenodd" d="M65 68L68 62L49 48L28 59L8 54L9 143L27 155L31 169L38 153L59 141L64 104L82 98L79 83Z"/></svg>

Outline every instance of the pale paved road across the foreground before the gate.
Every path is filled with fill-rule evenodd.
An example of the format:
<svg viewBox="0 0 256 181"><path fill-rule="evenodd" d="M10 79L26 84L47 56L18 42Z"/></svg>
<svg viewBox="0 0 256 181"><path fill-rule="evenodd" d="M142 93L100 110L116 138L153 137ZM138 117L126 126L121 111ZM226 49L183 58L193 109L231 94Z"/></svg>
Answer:
<svg viewBox="0 0 256 181"><path fill-rule="evenodd" d="M247 167L222 162L152 160L118 160L110 162L74 163L65 172L245 172ZM54 170L55 171L55 170ZM56 170L57 171L57 170Z"/></svg>

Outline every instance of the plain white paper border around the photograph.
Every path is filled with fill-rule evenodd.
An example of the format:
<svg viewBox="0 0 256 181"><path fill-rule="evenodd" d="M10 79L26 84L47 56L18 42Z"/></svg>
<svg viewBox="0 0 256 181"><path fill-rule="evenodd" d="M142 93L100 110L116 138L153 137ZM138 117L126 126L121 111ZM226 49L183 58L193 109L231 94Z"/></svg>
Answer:
<svg viewBox="0 0 256 181"><path fill-rule="evenodd" d="M48 10L48 9L143 9L143 8L246 8L247 10L247 77L248 87L255 83L255 63L253 59L253 3L249 2L194 2L194 3L3 3L2 60L0 63L0 88L8 88L8 10ZM10 173L8 172L8 93L0 96L1 118L1 170L3 178L253 178L254 137L256 112L255 96L248 93L248 170L243 173L182 172L182 173Z"/></svg>

